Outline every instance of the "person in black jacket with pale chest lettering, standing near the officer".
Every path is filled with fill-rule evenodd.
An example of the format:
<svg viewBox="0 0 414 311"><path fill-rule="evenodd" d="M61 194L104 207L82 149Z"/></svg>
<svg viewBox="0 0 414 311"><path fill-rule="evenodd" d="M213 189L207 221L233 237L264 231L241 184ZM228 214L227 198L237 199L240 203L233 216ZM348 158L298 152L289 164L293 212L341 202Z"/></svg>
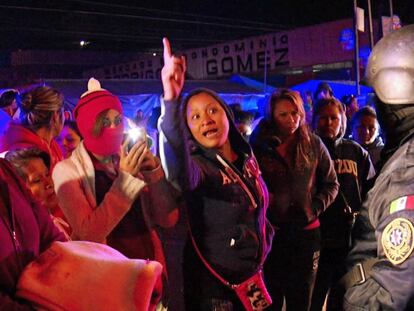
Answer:
<svg viewBox="0 0 414 311"><path fill-rule="evenodd" d="M334 161L340 187L334 203L320 217L322 250L312 298L314 311L322 310L329 288L345 271L353 214L360 210L368 180L375 175L368 152L358 143L343 138L346 124L345 108L336 98L315 103L313 126ZM328 310L342 310L341 305L330 301Z"/></svg>

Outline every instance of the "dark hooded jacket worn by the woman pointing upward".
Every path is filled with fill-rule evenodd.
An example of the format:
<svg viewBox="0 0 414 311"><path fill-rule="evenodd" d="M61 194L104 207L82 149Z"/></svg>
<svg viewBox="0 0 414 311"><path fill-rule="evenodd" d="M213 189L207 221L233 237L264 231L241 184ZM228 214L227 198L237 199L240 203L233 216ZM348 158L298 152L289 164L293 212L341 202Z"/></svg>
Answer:
<svg viewBox="0 0 414 311"><path fill-rule="evenodd" d="M161 159L167 178L184 193L192 234L201 253L219 274L239 283L258 270L271 246L273 230L265 216L268 192L227 105L214 92L204 92L226 111L229 139L242 161L242 171L220 157L216 149L206 149L192 138L185 120L191 94L183 103L162 106Z"/></svg>

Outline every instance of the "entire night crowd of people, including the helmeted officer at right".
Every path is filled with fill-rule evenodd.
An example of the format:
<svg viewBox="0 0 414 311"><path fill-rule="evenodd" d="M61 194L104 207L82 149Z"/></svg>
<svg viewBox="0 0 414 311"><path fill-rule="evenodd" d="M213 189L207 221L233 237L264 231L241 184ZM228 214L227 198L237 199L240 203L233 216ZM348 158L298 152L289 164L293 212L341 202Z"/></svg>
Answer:
<svg viewBox="0 0 414 311"><path fill-rule="evenodd" d="M36 307L17 284L54 241L160 262L151 310L168 308L160 231L181 224L185 310L410 310L414 66L388 58L414 59L413 42L407 26L372 51L375 106L322 82L278 89L256 122L213 90L182 94L186 60L164 39L155 149L125 135L121 102L93 78L69 114L54 88L3 91L0 309Z"/></svg>

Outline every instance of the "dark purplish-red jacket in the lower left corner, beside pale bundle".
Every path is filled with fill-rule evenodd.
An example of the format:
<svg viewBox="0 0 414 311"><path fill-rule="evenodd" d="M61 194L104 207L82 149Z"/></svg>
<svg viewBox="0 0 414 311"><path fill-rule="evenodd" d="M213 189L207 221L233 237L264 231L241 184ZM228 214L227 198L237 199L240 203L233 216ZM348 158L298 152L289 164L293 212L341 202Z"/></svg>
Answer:
<svg viewBox="0 0 414 311"><path fill-rule="evenodd" d="M19 276L53 241L64 241L65 237L3 159L0 159L0 217L0 310L31 310L14 297Z"/></svg>

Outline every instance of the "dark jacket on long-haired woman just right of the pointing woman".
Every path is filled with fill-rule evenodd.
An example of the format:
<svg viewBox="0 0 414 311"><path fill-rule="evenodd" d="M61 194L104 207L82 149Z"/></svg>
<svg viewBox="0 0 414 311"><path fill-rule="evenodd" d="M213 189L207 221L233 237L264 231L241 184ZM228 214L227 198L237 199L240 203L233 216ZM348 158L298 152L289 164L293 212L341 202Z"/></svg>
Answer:
<svg viewBox="0 0 414 311"><path fill-rule="evenodd" d="M291 168L276 151L280 139L263 119L250 137L270 193L268 218L272 225L305 228L316 221L335 199L338 181L322 141L310 134L311 163Z"/></svg>

